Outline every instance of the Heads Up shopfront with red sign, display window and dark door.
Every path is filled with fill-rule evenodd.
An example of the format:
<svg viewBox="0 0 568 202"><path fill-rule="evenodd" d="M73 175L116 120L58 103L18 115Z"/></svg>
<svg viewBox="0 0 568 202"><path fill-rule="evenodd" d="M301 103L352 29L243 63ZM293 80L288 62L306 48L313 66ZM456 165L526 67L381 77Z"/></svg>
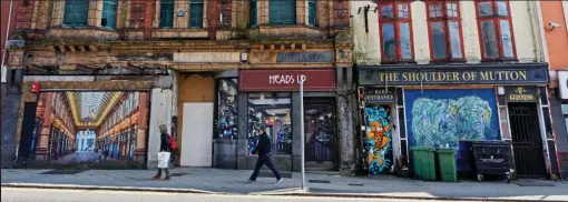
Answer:
<svg viewBox="0 0 568 202"><path fill-rule="evenodd" d="M300 82L304 81L304 120L300 117ZM337 162L335 69L242 70L238 93L238 169L253 169L247 156L266 125L273 159L283 171L300 171L301 121L305 123L306 168L335 170Z"/></svg>

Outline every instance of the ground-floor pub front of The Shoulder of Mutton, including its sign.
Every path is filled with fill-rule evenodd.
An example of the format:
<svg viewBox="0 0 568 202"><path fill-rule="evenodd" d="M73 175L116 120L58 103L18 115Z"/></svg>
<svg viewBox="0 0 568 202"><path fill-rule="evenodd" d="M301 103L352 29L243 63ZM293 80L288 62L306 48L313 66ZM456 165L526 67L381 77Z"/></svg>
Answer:
<svg viewBox="0 0 568 202"><path fill-rule="evenodd" d="M518 175L545 175L550 133L547 64L364 67L359 70L370 174L409 148L512 141ZM545 161L547 160L547 161Z"/></svg>

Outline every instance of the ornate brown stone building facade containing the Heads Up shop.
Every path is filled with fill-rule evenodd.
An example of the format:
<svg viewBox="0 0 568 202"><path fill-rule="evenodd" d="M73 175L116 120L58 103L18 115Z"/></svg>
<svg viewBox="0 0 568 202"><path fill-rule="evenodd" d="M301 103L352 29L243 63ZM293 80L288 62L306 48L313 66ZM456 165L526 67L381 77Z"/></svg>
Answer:
<svg viewBox="0 0 568 202"><path fill-rule="evenodd" d="M37 133L25 127L36 119L27 115L32 103L65 92L74 124L95 131L99 161L134 151L144 159L125 168L155 168L158 125L167 124L177 165L252 169L257 156L248 153L266 125L281 170L300 170L305 144L310 169L354 171L346 0L30 0L17 10L13 39L26 44L10 48L8 64L26 73L20 148ZM145 100L139 112L114 101L129 93Z"/></svg>

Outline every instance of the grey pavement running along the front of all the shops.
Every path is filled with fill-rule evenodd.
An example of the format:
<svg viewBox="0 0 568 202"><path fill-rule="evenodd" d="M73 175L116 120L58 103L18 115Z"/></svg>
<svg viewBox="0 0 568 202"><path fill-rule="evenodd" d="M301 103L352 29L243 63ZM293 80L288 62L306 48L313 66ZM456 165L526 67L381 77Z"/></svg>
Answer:
<svg viewBox="0 0 568 202"><path fill-rule="evenodd" d="M274 178L246 183L252 171L180 168L170 181L151 180L154 170L88 170L76 174L42 174L49 170L1 170L2 186L104 189L219 194L337 195L398 199L474 199L568 201L568 183L554 181L425 182L391 175L378 178L307 173L309 190L301 191L300 173L273 185ZM263 172L263 175L272 173ZM315 180L315 182L314 182ZM521 185L519 185L521 184Z"/></svg>

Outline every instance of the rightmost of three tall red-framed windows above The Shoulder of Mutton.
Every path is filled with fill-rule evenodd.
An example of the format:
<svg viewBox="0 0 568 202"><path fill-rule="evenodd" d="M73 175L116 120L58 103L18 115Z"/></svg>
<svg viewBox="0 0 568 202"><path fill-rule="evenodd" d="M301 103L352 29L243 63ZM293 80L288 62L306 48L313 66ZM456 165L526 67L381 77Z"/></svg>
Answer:
<svg viewBox="0 0 568 202"><path fill-rule="evenodd" d="M507 1L476 2L482 60L513 60L511 14Z"/></svg>

